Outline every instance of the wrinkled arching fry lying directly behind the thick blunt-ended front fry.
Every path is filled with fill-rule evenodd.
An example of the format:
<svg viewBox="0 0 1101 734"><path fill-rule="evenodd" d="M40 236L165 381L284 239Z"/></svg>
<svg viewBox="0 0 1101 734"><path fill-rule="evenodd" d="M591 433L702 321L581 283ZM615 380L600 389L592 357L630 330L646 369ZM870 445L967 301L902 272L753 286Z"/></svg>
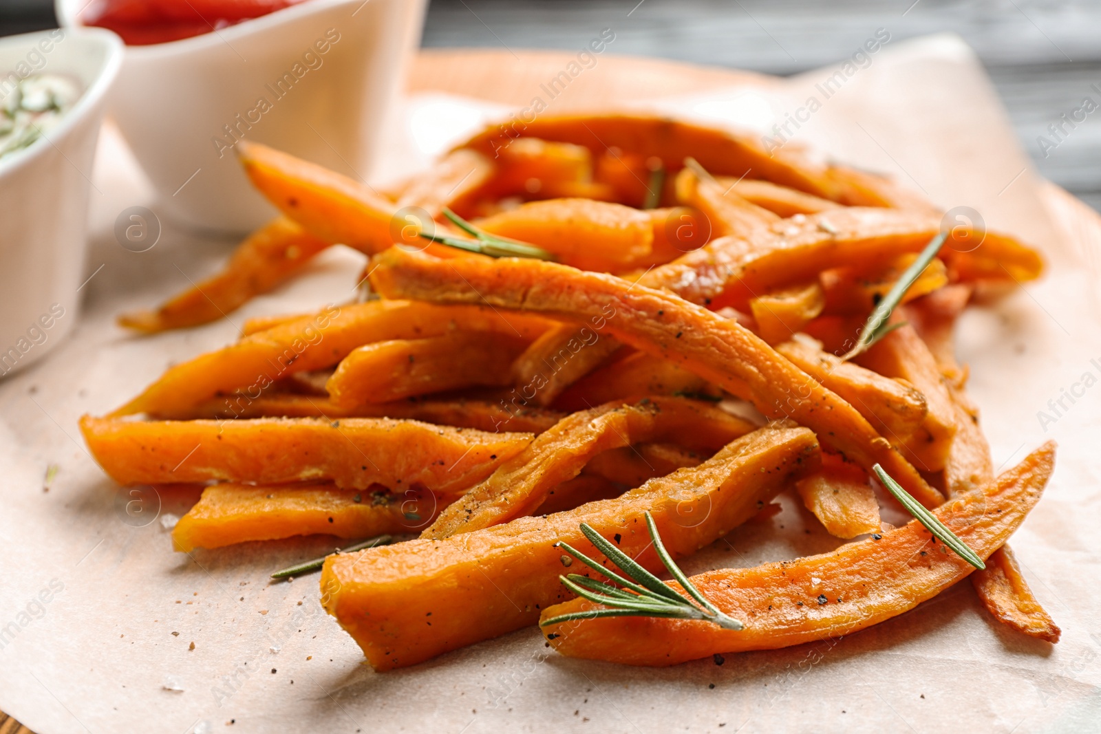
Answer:
<svg viewBox="0 0 1101 734"><path fill-rule="evenodd" d="M547 493L577 476L585 464L609 449L651 441L690 441L715 450L754 426L713 406L677 397L608 403L574 413L539 434L501 464L422 534L447 538L530 515Z"/></svg>

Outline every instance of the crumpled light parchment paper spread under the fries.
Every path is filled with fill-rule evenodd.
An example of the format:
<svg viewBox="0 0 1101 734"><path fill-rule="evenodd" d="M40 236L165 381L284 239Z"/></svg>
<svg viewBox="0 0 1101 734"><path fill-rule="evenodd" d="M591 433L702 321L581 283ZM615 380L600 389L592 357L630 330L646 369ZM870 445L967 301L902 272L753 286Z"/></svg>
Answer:
<svg viewBox="0 0 1101 734"><path fill-rule="evenodd" d="M44 363L0 384L0 625L18 627L0 649L0 709L40 734L1098 731L1097 234L1047 219L1037 179L962 42L889 44L871 59L791 144L894 173L946 208L972 207L988 226L1038 244L1049 262L1042 282L969 311L958 349L995 465L1011 465L1047 438L1060 443L1055 476L1013 538L1029 583L1062 627L1059 645L1005 631L961 583L843 639L728 655L721 666L708 659L648 670L569 660L546 649L533 628L412 669L372 672L321 612L316 577L266 581L333 539L174 554L162 518L185 512L194 495L165 493L157 502L120 493L76 428L80 414L116 407L168 364L231 341L248 316L348 297L362 259L328 253L308 276L208 327L145 339L123 333L116 314L209 274L232 243L164 222L152 250L121 248L111 231L118 212L155 204L108 129L95 173L102 191L90 224L95 275L65 304L64 318L75 318L70 306L85 299L79 326ZM654 106L767 130L831 74ZM426 161L495 111L439 96L408 100L380 176ZM1048 401L1064 388L1077 396L1064 398L1056 415ZM1053 419L1042 421L1040 410ZM58 469L44 491L51 464ZM140 521L124 508L133 500L148 512ZM782 501L772 522L735 530L687 560L687 570L835 546L791 497Z"/></svg>

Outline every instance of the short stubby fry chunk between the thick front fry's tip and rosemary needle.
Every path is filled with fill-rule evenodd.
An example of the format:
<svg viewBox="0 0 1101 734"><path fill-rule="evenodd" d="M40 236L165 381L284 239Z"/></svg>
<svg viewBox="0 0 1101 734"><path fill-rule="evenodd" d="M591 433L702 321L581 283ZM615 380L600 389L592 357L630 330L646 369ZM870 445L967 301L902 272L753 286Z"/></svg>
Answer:
<svg viewBox="0 0 1101 734"><path fill-rule="evenodd" d="M826 530L854 538L880 529L880 505L868 474L837 454L822 454L822 467L795 484L803 504Z"/></svg>

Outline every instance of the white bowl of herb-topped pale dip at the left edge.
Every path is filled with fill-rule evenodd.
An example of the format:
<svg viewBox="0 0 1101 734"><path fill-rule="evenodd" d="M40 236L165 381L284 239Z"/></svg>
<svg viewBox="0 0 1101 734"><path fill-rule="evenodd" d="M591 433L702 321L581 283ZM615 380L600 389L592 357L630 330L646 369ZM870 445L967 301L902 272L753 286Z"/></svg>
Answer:
<svg viewBox="0 0 1101 734"><path fill-rule="evenodd" d="M83 89L56 128L0 158L0 375L44 357L76 321L96 140L121 63L118 36L98 29L0 39L0 80L32 70Z"/></svg>

